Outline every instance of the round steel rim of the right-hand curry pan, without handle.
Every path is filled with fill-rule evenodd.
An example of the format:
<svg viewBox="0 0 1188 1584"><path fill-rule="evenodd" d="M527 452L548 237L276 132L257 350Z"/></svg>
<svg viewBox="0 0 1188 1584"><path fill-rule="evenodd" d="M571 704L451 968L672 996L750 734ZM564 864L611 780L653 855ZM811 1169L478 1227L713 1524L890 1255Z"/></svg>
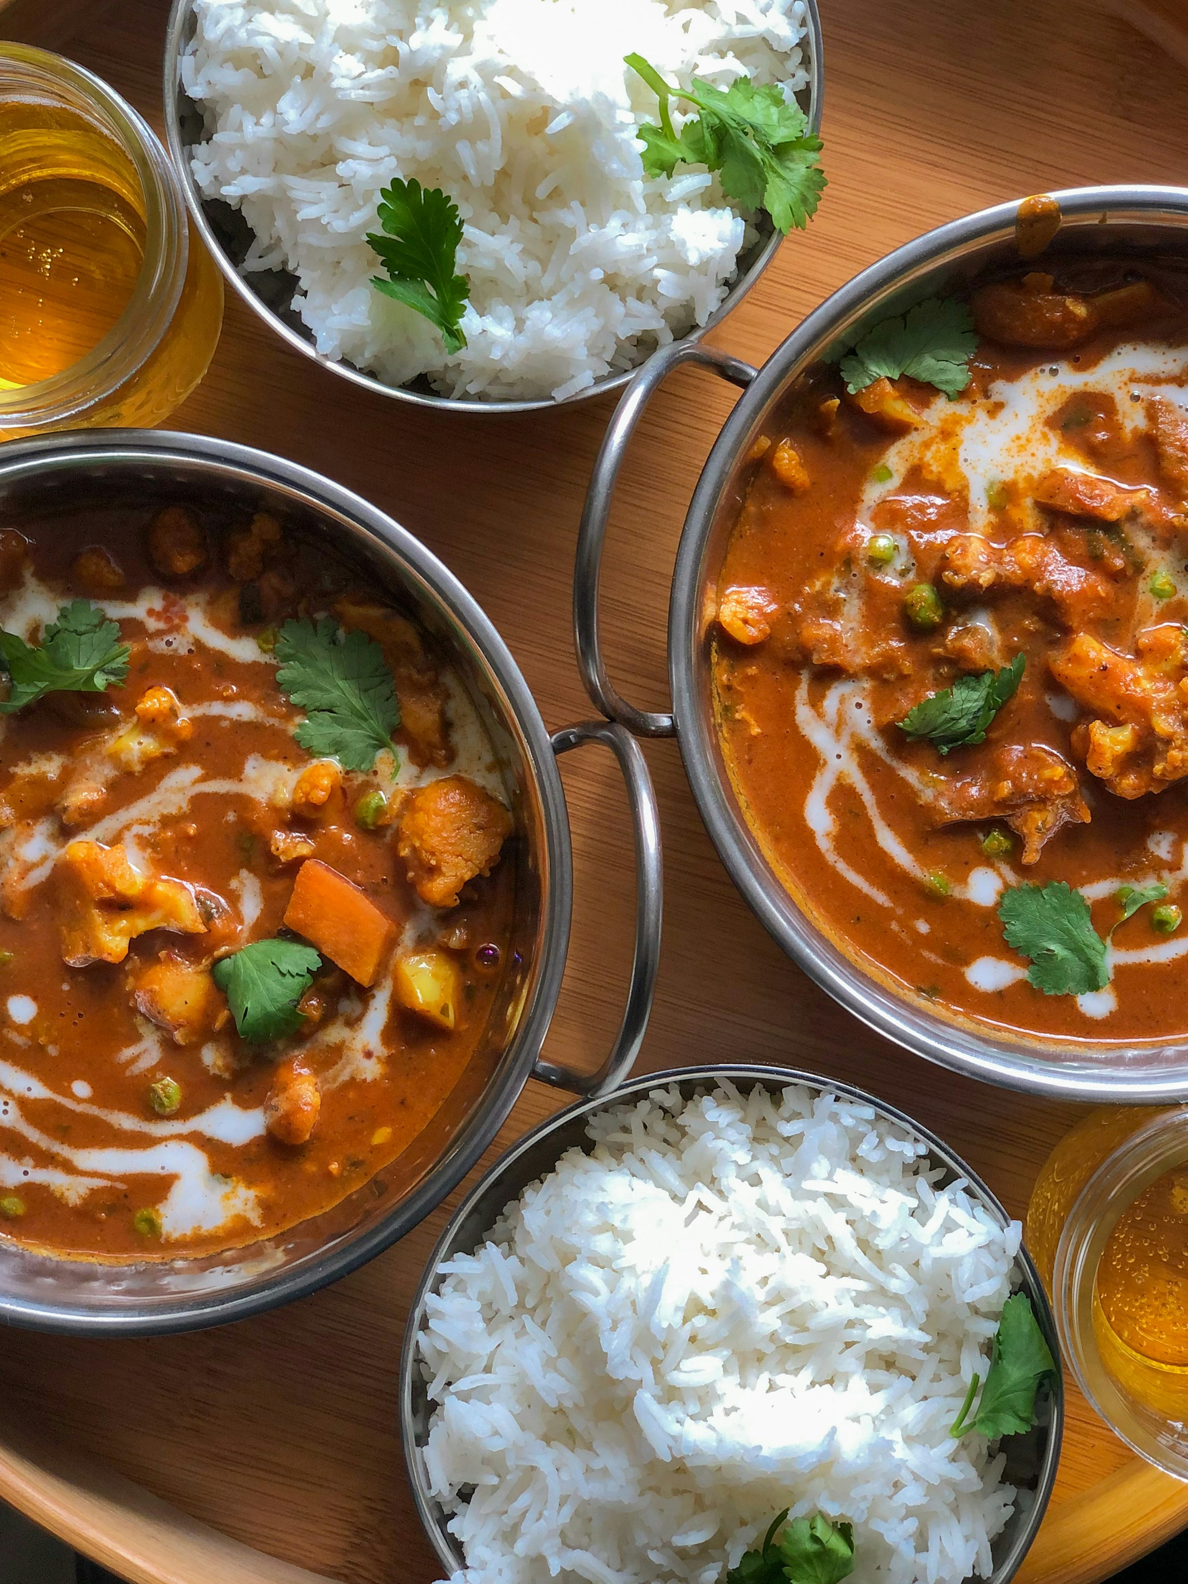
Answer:
<svg viewBox="0 0 1188 1584"><path fill-rule="evenodd" d="M1064 225L1087 233L1091 228L1101 234L1109 225L1123 223L1182 228L1188 255L1188 187L1076 187L1055 190L1050 196L1060 203ZM703 695L702 600L711 577L706 565L710 542L729 480L759 420L790 382L852 326L900 307L901 293L904 301L911 301L906 291L933 271L958 265L976 249L1012 236L1019 203L1011 200L960 215L876 260L808 314L754 371L706 458L676 551L668 607L673 721L694 800L732 881L797 966L860 1022L914 1055L1004 1088L1115 1104L1175 1101L1188 1088L1188 1042L1164 1045L1180 1050L1178 1066L1164 1074L1136 1076L1121 1066L1106 1066L1104 1057L1090 1055L1095 1045L1104 1052L1107 1045L1121 1042L1061 1044L1038 1034L998 1039L990 1023L976 1025L927 1012L868 974L809 919L763 855L729 786L711 708ZM1061 1047L1060 1057L1042 1053L1053 1047Z"/></svg>

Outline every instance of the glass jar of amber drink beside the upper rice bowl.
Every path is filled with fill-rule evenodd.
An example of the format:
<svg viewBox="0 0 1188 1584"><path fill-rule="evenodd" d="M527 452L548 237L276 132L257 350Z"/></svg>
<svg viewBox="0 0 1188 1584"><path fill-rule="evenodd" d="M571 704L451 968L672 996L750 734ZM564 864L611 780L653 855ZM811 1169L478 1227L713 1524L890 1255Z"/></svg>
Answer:
<svg viewBox="0 0 1188 1584"><path fill-rule="evenodd" d="M0 43L0 440L160 423L222 318L147 124L70 60Z"/></svg>

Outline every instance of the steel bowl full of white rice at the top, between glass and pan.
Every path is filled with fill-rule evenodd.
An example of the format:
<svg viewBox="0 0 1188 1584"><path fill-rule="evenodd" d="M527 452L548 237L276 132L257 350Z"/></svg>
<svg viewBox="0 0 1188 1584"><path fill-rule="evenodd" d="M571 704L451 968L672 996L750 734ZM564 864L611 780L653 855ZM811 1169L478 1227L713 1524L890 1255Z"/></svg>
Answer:
<svg viewBox="0 0 1188 1584"><path fill-rule="evenodd" d="M798 141L821 124L816 0L746 17L626 0L611 27L597 5L483 0L415 40L399 8L385 24L317 0L279 52L239 10L212 22L195 0L173 8L166 127L190 212L244 301L366 390L470 413L618 390L656 347L718 323L775 257L776 222L803 225L816 204L816 149ZM673 130L654 68L624 59L645 40L686 93L740 71L775 93L752 122L779 119L781 196L768 177L765 206L751 193L743 208L672 143L667 163L640 163L637 127ZM672 114L695 130L680 92ZM421 206L431 242L399 252Z"/></svg>

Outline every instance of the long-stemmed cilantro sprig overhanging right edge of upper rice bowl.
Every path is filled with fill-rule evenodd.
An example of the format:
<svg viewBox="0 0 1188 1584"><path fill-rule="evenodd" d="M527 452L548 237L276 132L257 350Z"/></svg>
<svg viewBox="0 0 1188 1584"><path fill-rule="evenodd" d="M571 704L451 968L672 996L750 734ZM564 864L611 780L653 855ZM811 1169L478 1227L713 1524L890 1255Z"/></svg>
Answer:
<svg viewBox="0 0 1188 1584"><path fill-rule="evenodd" d="M718 171L722 192L744 209L767 209L778 231L805 228L825 188L821 169L821 138L808 128L800 106L787 103L775 82L756 84L737 78L722 90L694 78L691 89L672 87L643 55L624 55L661 101L661 124L645 122L637 136L643 144L646 176L672 176L676 165L705 165ZM668 103L695 105L680 133Z"/></svg>

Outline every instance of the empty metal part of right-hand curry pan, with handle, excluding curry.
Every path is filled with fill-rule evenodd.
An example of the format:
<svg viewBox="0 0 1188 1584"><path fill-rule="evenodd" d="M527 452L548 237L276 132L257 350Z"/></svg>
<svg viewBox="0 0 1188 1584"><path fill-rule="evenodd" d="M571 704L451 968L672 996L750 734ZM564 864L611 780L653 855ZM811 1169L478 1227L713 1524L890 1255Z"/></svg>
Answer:
<svg viewBox="0 0 1188 1584"><path fill-rule="evenodd" d="M1044 258L1188 257L1188 188L1080 187L1052 195L1061 225ZM889 314L1019 265L1019 203L954 220L863 269L803 320L760 367L711 347L667 347L619 402L586 499L578 540L573 621L591 697L640 737L680 741L697 806L730 876L789 957L871 1028L930 1061L990 1083L1064 1099L1153 1102L1188 1093L1188 1042L1125 1044L1011 1034L988 1022L942 1015L922 996L876 979L813 919L768 863L730 786L713 713L711 613L730 532L749 477L748 451L790 388ZM665 375L697 363L743 388L722 426L684 520L668 607L672 713L637 710L611 684L599 643L599 565L615 480L630 434ZM710 613L710 615L706 615Z"/></svg>

